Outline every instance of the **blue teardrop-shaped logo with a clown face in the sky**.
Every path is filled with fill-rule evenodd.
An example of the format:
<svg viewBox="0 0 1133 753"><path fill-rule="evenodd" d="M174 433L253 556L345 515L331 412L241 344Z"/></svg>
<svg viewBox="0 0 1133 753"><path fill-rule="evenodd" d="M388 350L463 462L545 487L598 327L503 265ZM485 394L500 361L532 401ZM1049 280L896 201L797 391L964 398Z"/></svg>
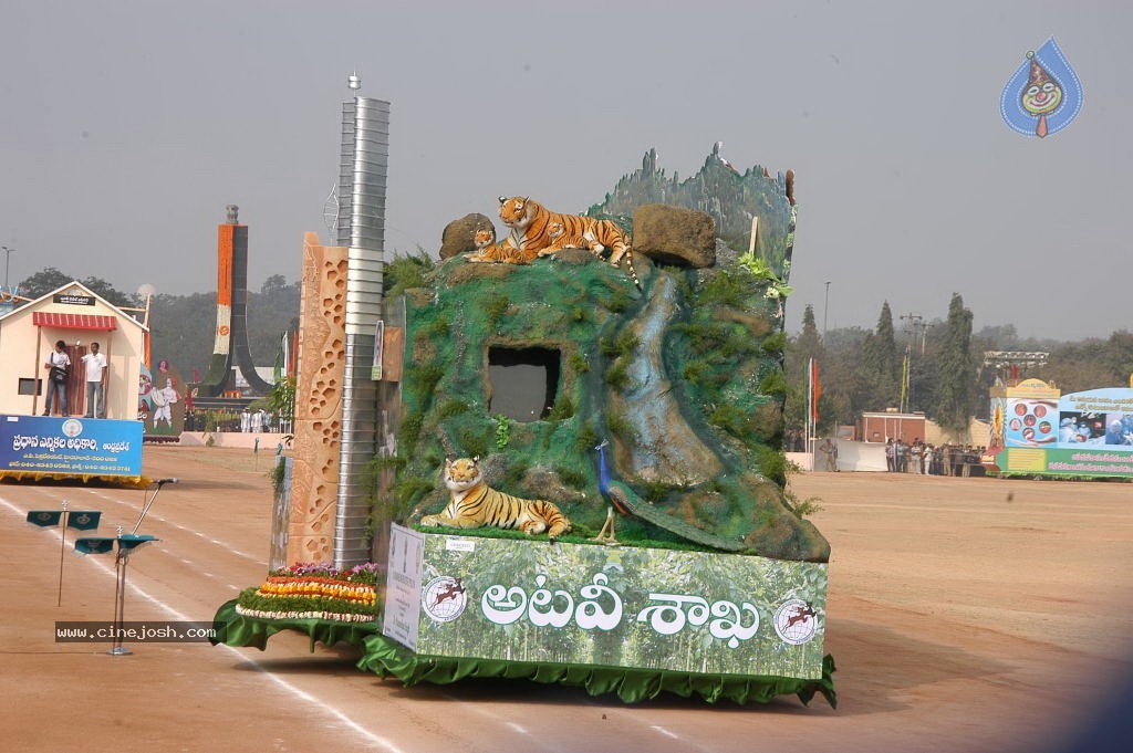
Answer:
<svg viewBox="0 0 1133 753"><path fill-rule="evenodd" d="M1055 37L1015 70L999 97L999 112L1012 130L1046 138L1070 125L1082 109L1082 84Z"/></svg>

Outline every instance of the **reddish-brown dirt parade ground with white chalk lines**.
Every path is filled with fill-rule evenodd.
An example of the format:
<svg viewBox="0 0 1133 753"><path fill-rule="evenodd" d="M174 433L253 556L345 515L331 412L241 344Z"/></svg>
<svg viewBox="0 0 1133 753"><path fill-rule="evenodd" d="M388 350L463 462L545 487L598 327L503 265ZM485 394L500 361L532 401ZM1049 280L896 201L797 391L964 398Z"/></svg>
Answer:
<svg viewBox="0 0 1133 753"><path fill-rule="evenodd" d="M266 571L269 459L146 447L178 477L127 574L126 619L208 621ZM806 473L829 539L826 648L840 704L709 705L513 681L406 688L350 649L292 633L264 652L207 643L57 643L57 621L113 616L113 561L75 557L28 510L103 511L133 528L143 493L0 485L10 557L0 617L7 751L1118 751L1133 699L1133 485ZM68 534L67 549L75 533ZM59 572L62 558L62 605Z"/></svg>

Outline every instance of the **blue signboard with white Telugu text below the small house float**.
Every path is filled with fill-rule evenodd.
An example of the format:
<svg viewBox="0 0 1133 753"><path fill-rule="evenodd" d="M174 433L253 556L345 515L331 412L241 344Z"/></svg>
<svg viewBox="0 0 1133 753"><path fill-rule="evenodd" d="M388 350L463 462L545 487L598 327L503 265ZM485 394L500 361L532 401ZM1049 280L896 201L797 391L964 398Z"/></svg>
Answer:
<svg viewBox="0 0 1133 753"><path fill-rule="evenodd" d="M0 471L142 476L140 421L0 416Z"/></svg>

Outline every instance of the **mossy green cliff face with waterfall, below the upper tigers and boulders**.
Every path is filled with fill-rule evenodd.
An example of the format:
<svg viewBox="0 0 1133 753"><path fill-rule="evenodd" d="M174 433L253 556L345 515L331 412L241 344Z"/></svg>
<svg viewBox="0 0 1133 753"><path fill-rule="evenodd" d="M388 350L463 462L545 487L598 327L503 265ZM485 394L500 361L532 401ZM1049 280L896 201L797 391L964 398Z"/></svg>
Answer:
<svg viewBox="0 0 1133 753"><path fill-rule="evenodd" d="M613 478L663 515L753 554L825 561L826 541L782 494L785 335L767 281L739 265L639 269L644 291L606 264L455 257L428 272L431 294L407 297L403 464L381 510L409 523L438 511L441 459L479 456L493 487L551 499L576 536L597 532L606 502L594 447L607 439ZM545 419L501 421L491 348L557 351ZM640 519L617 532L630 546L684 546Z"/></svg>

